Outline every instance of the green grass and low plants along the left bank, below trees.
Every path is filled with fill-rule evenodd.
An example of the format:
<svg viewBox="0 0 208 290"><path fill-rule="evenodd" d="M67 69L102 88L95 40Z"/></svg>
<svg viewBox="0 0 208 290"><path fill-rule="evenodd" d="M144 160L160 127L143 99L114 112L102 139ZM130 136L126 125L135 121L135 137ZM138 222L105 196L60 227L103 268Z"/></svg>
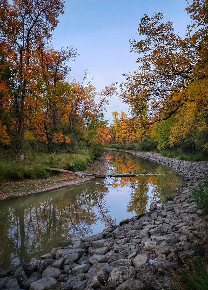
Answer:
<svg viewBox="0 0 208 290"><path fill-rule="evenodd" d="M51 172L47 171L47 166L82 171L90 163L91 157L87 154L28 154L23 163L19 158L1 156L0 182L49 177Z"/></svg>

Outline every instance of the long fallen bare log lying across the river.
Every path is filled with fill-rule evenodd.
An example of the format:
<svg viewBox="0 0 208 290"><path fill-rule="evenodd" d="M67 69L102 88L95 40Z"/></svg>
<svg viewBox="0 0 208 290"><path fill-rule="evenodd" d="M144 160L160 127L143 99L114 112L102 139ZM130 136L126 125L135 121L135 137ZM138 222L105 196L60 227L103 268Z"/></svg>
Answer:
<svg viewBox="0 0 208 290"><path fill-rule="evenodd" d="M52 167L47 167L46 169L52 170L52 171L61 171L65 172L68 174L73 174L73 175L87 175L87 176L94 176L94 177L136 177L136 176L150 176L150 175L160 175L157 173L105 173L105 174L96 174L96 173L84 173L84 172L74 172L74 171L69 171L65 169L60 169L60 168L52 168Z"/></svg>

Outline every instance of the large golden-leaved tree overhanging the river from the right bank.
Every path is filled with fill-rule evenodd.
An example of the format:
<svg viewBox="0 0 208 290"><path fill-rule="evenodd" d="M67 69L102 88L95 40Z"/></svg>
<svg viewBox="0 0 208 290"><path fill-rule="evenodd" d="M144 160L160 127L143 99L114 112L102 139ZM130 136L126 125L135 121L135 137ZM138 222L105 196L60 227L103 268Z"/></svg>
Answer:
<svg viewBox="0 0 208 290"><path fill-rule="evenodd" d="M171 20L163 23L164 15L158 12L144 14L137 30L141 39L130 40L131 52L139 54L139 68L125 75L120 88L123 102L131 108L134 131L146 133L182 108L189 116L187 130L189 124L207 122L207 0L189 2L186 11L192 24L185 38L174 32Z"/></svg>

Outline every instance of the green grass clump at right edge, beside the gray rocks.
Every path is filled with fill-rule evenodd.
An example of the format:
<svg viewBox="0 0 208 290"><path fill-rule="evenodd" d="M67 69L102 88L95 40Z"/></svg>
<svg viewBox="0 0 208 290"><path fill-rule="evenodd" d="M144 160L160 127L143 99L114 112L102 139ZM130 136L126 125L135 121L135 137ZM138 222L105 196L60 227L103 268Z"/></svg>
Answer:
<svg viewBox="0 0 208 290"><path fill-rule="evenodd" d="M198 189L193 190L193 199L202 209L203 214L208 213L208 180L205 184L199 184Z"/></svg>

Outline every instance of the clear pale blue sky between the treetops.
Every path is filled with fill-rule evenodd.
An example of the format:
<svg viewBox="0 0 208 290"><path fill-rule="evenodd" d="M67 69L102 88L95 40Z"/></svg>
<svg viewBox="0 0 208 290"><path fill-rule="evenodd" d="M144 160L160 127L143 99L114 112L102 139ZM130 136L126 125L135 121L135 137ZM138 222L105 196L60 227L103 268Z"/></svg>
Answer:
<svg viewBox="0 0 208 290"><path fill-rule="evenodd" d="M175 33L185 36L189 16L185 0L66 0L54 31L54 49L74 46L80 54L71 66L70 77L82 81L84 70L95 77L92 85L101 91L106 85L122 83L127 71L138 66L137 55L130 53L130 38L138 39L136 30L143 14L161 11L164 21L172 19ZM111 112L128 109L116 96L107 107L106 119L112 123Z"/></svg>

